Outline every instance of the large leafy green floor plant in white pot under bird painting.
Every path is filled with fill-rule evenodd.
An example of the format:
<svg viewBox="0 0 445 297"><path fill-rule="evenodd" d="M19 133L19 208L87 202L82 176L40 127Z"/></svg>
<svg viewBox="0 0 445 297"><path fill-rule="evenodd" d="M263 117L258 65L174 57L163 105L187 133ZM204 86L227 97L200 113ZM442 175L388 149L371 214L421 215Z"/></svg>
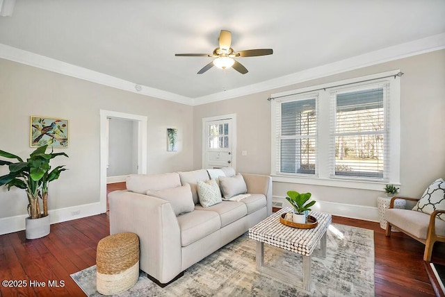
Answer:
<svg viewBox="0 0 445 297"><path fill-rule="evenodd" d="M24 189L28 197L26 218L26 238L35 239L49 234L48 184L58 179L60 172L66 169L58 166L51 170L49 161L58 155L68 157L66 153L45 153L48 146L40 146L29 155L26 161L17 155L0 150L0 157L16 159L18 162L0 160L0 165L7 165L9 173L0 176L0 186L5 185ZM42 208L40 207L42 200Z"/></svg>

